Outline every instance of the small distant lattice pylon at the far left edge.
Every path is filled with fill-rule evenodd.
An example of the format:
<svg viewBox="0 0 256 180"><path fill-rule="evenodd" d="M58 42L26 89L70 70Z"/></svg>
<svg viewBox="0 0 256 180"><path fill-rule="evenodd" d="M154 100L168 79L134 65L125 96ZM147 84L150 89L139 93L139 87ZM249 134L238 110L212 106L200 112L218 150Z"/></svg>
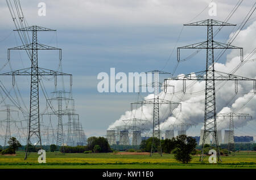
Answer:
<svg viewBox="0 0 256 180"><path fill-rule="evenodd" d="M5 132L5 145L4 147L6 146L7 142L10 140L11 138L11 128L10 128L10 123L11 122L20 122L20 121L15 121L13 119L10 118L10 112L18 112L18 110L13 110L13 109L10 109L10 106L11 105L5 105L6 109L5 110L0 110L0 112L6 112L6 119L0 121L1 123L4 122L6 123L6 132Z"/></svg>

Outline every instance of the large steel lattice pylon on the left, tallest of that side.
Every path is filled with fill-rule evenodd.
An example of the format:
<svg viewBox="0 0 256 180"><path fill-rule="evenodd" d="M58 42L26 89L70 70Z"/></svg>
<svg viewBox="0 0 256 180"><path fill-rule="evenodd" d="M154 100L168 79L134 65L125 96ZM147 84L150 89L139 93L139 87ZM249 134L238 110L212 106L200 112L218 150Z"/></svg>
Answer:
<svg viewBox="0 0 256 180"><path fill-rule="evenodd" d="M7 73L0 74L0 75L13 76L13 84L14 84L14 76L15 75L31 76L30 112L29 112L30 117L29 117L29 122L28 122L27 147L28 147L28 144L31 144L31 137L35 136L36 143L34 145L42 148L42 140L41 140L41 136L40 136L40 120L39 120L39 80L40 80L39 77L46 76L46 75L47 76L55 76L55 80L56 80L57 79L56 77L58 75L68 75L70 77L72 77L72 75L38 67L38 50L59 50L60 51L60 60L61 60L61 49L38 43L38 32L43 32L43 31L48 32L48 31L56 31L56 30L33 25L30 27L15 29L14 31L20 31L20 32L25 32L25 33L32 32L32 43L8 49L8 59L10 59L10 50L26 50L26 51L28 51L28 55L31 60L31 67L24 68L22 70L7 72ZM72 85L72 78L71 78L70 82ZM55 84L56 84L56 82L55 82ZM27 158L27 150L28 149L26 148L26 154L25 154L24 159Z"/></svg>

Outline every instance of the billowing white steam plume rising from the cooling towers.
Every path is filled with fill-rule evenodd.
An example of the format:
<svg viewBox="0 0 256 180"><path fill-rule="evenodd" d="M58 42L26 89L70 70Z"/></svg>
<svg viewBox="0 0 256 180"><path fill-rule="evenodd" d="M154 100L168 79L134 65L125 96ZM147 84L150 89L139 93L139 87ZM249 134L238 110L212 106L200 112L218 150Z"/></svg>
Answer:
<svg viewBox="0 0 256 180"><path fill-rule="evenodd" d="M232 36L232 35L230 35ZM246 47L244 52L244 57L249 55L249 53L256 47L256 22L251 24L249 27L241 31L238 35L236 41L234 42L237 46ZM249 41L250 39L250 41ZM216 63L215 68L217 71L222 72L232 72L234 68L236 68L240 63L240 57L237 56L237 52L234 50L227 55L226 62ZM255 55L251 57L254 59ZM247 78L256 78L255 74L255 66L256 62L247 62L243 64L234 74L244 76ZM194 75L194 74L192 74ZM182 110L179 112L176 109L171 116L168 106L160 106L160 129L167 130L170 128L170 125L174 123L192 123L194 125L199 125L203 122L204 119L204 82L188 82L187 87L190 87L190 84L193 84L191 88L188 88L186 91L186 95L183 95L181 89L183 88L182 81L171 81L172 85L175 85L176 94L173 95L164 95L164 92L160 93L160 98L164 98L166 100L181 102ZM172 91L172 90L170 90ZM238 94L236 95L234 92L234 82L216 82L216 104L217 111L220 113L227 112L237 112L237 113L249 113L253 117L255 117L255 96L253 93L253 82L240 82L238 85ZM191 93L191 95L190 95ZM247 94L246 94L247 93ZM144 99L152 98L153 95L148 95ZM180 101L181 100L181 101ZM232 100L232 101L230 101ZM152 127L152 105L148 105L143 108L138 108L133 110L133 112L127 111L125 114L121 116L117 121L115 121L109 128L113 128L115 126L123 125L122 119L127 119L131 117L143 118L146 117L148 119L148 123L143 127ZM255 119L255 118L253 118ZM234 125L238 127L246 126L248 121L251 121L251 118L239 119L234 118ZM217 119L217 128L223 129L229 127L229 118L218 118Z"/></svg>

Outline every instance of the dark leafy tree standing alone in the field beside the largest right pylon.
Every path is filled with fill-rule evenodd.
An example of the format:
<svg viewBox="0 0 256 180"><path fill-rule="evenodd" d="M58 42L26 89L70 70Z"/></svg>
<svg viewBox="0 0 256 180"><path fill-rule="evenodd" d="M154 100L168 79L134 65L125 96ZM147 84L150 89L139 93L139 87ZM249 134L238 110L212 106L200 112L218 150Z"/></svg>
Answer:
<svg viewBox="0 0 256 180"><path fill-rule="evenodd" d="M196 140L187 135L180 135L176 137L176 153L175 158L182 163L188 164L191 161L191 152L196 147Z"/></svg>

